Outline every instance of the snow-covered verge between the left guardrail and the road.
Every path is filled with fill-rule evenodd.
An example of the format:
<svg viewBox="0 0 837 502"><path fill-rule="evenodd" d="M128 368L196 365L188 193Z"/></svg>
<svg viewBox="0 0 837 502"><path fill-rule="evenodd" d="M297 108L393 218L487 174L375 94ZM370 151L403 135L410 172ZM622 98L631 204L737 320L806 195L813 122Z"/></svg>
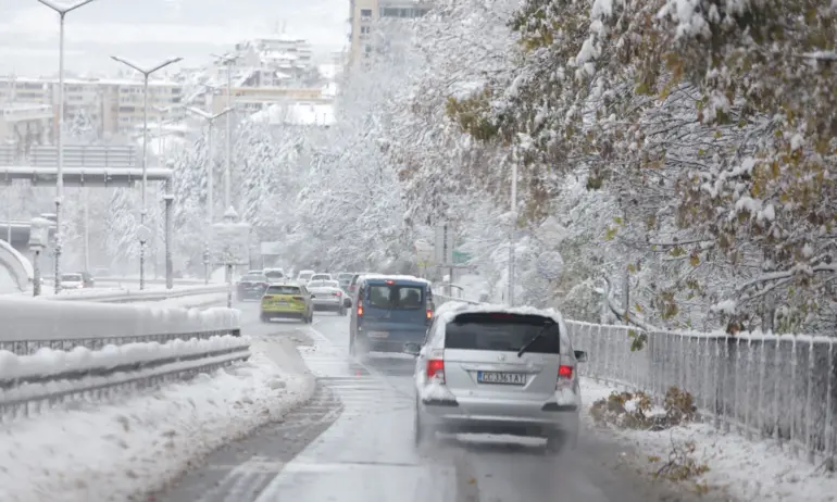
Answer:
<svg viewBox="0 0 837 502"><path fill-rule="evenodd" d="M0 424L0 500L143 500L222 444L311 397L286 340L213 375L108 405L52 410Z"/></svg>

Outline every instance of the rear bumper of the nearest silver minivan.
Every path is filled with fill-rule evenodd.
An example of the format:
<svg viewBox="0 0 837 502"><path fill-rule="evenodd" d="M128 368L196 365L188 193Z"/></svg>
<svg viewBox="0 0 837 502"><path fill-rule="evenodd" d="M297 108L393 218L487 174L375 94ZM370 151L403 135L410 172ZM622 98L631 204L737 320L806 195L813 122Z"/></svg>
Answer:
<svg viewBox="0 0 837 502"><path fill-rule="evenodd" d="M467 400L418 401L424 423L448 434L509 434L548 436L553 431L576 431L578 406L546 402L498 402L492 413L469 412Z"/></svg>

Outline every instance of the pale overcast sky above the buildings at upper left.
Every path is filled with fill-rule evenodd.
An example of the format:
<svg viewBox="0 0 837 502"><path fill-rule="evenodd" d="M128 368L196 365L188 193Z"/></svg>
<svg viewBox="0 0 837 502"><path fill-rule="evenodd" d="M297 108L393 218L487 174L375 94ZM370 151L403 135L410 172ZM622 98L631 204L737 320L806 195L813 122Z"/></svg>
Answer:
<svg viewBox="0 0 837 502"><path fill-rule="evenodd" d="M179 55L198 66L283 25L325 53L347 43L348 16L349 0L95 0L66 15L66 67L114 73L111 54L141 64ZM37 0L0 0L0 74L57 74L58 27Z"/></svg>

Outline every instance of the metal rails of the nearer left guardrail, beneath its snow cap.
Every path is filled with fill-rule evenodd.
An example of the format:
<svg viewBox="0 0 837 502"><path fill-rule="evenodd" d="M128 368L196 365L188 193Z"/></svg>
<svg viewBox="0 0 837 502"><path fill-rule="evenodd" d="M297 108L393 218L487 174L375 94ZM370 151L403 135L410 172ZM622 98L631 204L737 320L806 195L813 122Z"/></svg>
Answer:
<svg viewBox="0 0 837 502"><path fill-rule="evenodd" d="M95 362L83 368L0 379L0 423L28 417L60 403L110 398L122 389L155 388L249 357L249 342L241 339L233 347L185 355L164 354L115 366Z"/></svg>

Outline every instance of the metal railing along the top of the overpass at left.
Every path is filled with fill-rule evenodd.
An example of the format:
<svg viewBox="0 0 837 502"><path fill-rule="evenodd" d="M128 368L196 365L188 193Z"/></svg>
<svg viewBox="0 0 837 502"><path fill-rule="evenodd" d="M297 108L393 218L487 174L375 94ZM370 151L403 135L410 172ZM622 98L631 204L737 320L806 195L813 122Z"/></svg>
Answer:
<svg viewBox="0 0 837 502"><path fill-rule="evenodd" d="M33 145L27 149L0 146L0 166L26 165L30 167L58 166L58 148L51 145ZM134 146L64 146L65 167L138 167L139 149Z"/></svg>

